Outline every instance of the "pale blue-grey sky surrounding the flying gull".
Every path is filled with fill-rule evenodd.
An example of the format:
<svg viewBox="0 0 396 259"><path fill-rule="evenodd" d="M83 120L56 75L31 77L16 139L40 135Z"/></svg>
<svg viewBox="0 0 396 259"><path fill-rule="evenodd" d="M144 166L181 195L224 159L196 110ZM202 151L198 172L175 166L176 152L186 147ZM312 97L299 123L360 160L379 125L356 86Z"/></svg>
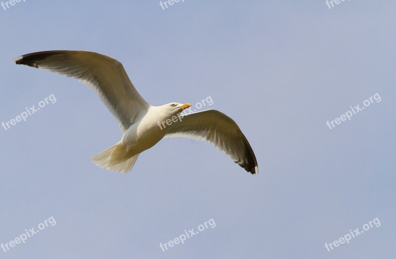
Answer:
<svg viewBox="0 0 396 259"><path fill-rule="evenodd" d="M395 258L396 2L23 0L0 7L0 258ZM249 140L252 176L208 143L168 138L132 172L90 157L121 139L76 80L13 64L56 49L123 63L152 105L210 96ZM374 94L380 102L330 129ZM202 110L203 110L202 108ZM374 218L381 225L327 251ZM213 218L208 228L163 252Z"/></svg>

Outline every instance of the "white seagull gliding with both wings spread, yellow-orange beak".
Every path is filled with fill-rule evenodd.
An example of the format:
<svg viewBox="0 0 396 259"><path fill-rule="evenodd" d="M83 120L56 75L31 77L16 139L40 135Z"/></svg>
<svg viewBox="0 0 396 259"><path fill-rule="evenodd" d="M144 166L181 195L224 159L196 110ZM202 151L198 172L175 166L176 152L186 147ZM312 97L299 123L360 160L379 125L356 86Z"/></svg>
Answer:
<svg viewBox="0 0 396 259"><path fill-rule="evenodd" d="M230 117L213 109L180 116L190 103L148 104L116 59L92 51L50 50L25 54L13 61L75 78L99 95L123 133L117 144L91 158L102 169L128 173L140 153L162 138L186 137L207 141L248 173L258 173L253 150ZM160 122L167 122L166 127Z"/></svg>

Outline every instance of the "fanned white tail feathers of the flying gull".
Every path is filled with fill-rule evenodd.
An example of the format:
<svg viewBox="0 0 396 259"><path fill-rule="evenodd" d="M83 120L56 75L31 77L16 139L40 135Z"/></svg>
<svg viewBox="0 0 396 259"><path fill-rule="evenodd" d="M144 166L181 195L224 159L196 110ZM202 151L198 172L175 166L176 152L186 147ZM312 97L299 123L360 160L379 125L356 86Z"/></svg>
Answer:
<svg viewBox="0 0 396 259"><path fill-rule="evenodd" d="M131 171L139 154L130 156L126 147L118 142L114 146L100 152L91 158L92 162L100 168L116 173L128 173Z"/></svg>

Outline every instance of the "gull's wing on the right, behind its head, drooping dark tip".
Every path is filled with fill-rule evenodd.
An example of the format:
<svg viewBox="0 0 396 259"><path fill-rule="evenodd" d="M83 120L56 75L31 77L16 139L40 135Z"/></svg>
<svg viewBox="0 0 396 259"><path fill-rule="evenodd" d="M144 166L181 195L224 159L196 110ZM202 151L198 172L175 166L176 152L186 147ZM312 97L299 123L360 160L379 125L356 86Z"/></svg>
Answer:
<svg viewBox="0 0 396 259"><path fill-rule="evenodd" d="M227 115L206 110L181 117L165 137L187 137L212 143L251 174L258 173L257 161L245 135Z"/></svg>

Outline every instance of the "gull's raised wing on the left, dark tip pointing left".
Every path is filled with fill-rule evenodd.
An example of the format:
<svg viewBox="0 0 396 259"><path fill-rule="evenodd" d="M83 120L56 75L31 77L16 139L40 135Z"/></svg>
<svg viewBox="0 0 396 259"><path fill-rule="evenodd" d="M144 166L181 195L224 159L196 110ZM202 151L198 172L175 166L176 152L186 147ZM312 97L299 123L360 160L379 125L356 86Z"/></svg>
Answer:
<svg viewBox="0 0 396 259"><path fill-rule="evenodd" d="M135 89L122 64L109 56L82 50L53 50L26 54L14 62L76 78L86 84L117 118L123 132L137 117L147 113L149 104Z"/></svg>

